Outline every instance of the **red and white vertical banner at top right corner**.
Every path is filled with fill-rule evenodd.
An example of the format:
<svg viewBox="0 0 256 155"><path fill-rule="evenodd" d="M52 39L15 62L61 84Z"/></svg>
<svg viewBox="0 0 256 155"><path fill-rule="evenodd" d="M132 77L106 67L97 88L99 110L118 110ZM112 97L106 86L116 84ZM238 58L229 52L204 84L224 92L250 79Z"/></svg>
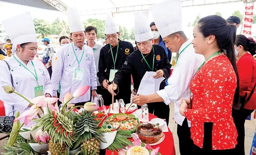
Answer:
<svg viewBox="0 0 256 155"><path fill-rule="evenodd" d="M251 25L252 25L252 19L253 19L253 4L254 4L254 2L246 2L245 3L242 34L245 35L246 37L251 37Z"/></svg>

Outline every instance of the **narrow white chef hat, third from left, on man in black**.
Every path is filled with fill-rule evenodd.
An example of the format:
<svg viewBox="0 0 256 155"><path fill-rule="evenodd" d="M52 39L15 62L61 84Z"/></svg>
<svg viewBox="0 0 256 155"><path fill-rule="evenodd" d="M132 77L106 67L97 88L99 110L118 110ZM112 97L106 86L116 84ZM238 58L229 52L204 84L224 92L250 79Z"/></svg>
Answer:
<svg viewBox="0 0 256 155"><path fill-rule="evenodd" d="M116 25L111 12L106 13L106 24L105 24L105 34L113 34L119 32L119 27Z"/></svg>

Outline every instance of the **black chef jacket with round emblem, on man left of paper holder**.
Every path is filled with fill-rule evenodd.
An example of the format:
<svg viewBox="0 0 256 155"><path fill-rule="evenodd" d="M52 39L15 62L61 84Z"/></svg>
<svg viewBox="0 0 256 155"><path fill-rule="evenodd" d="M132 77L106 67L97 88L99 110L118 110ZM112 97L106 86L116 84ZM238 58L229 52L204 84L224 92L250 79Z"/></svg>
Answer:
<svg viewBox="0 0 256 155"><path fill-rule="evenodd" d="M113 57L115 59L117 50L117 45L112 47ZM118 52L115 62L115 69L120 69L127 56L130 55L134 51L134 46L132 43L127 41L122 41L119 39ZM102 85L104 79L109 79L110 69L114 69L114 62L110 50L110 44L106 44L100 49L99 55L99 71L97 76L99 77L99 82L101 83L101 93L104 104L109 105L112 102L112 95L105 89ZM126 76L123 79L124 84L120 85L118 94L114 97L114 99L123 99L124 103L130 103L131 100L131 75ZM108 83L111 84L111 83Z"/></svg>

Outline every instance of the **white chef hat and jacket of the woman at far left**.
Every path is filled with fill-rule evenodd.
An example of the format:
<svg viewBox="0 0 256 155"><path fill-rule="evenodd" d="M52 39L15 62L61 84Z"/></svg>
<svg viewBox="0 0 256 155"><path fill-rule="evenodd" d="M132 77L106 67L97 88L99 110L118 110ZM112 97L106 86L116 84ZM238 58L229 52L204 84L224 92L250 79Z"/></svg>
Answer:
<svg viewBox="0 0 256 155"><path fill-rule="evenodd" d="M15 22L15 23L14 23ZM37 42L36 31L31 17L30 12L26 12L15 17L6 19L2 21L5 30L7 31L11 40L13 40L12 51L16 51L17 44L22 44L26 42ZM52 84L50 81L50 75L44 66L44 64L34 59L29 61L27 65L18 57L15 53L15 57L24 66L26 66L31 72L37 73L38 83L35 76L27 70L22 64L20 64L14 56L8 57L5 60L11 66L11 73L14 79L15 91L27 97L29 100L35 97L35 87L38 85L43 85L44 94L52 94ZM6 115L13 115L12 106L14 105L15 114L20 111L20 114L25 110L29 109L29 102L15 93L7 94L3 86L12 85L11 83L11 73L5 61L0 61L0 99L4 101ZM24 121L22 119L21 121ZM33 124L35 122L31 122ZM28 124L27 126L29 126Z"/></svg>

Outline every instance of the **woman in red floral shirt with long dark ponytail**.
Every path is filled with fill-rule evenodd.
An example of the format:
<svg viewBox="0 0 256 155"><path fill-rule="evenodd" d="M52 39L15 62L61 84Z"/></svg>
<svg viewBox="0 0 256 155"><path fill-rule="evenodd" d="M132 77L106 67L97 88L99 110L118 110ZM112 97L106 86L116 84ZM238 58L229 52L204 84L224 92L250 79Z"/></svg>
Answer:
<svg viewBox="0 0 256 155"><path fill-rule="evenodd" d="M210 15L201 18L193 29L191 43L205 62L190 83L192 102L183 98L180 106L181 115L191 120L193 154L235 154L237 131L232 105L237 105L239 81L232 26L222 17Z"/></svg>

